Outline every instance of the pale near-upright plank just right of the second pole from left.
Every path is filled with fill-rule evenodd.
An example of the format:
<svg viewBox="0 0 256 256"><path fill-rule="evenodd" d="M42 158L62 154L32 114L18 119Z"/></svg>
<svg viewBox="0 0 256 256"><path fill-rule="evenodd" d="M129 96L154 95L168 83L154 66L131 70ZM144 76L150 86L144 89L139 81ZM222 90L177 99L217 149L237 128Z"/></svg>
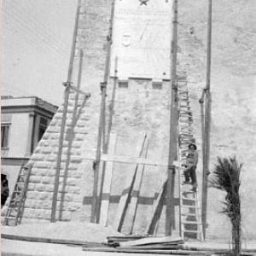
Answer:
<svg viewBox="0 0 256 256"><path fill-rule="evenodd" d="M115 145L116 145L116 133L110 133L109 139L109 146L108 152L110 154L114 154ZM112 172L113 172L113 162L106 163L106 170L105 170L105 179L103 183L102 193L103 195L107 195L107 198L102 200L102 207L101 207L101 217L100 217L100 224L107 226L108 224L108 207L109 207L109 198L110 198L110 189L111 189L111 182L112 182Z"/></svg>

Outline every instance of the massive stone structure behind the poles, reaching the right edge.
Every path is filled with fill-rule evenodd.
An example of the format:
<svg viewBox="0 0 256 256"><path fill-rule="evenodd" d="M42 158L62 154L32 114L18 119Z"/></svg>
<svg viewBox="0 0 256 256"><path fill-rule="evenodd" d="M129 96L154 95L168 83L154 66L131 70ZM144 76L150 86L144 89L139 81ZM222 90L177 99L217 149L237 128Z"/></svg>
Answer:
<svg viewBox="0 0 256 256"><path fill-rule="evenodd" d="M108 35L111 2L108 1L81 1L79 12L79 31L76 38L76 56L73 63L73 84L79 85L76 76L79 69L79 50L84 49L84 65L81 75L81 90L91 93L89 102L84 103L82 95L70 96L67 109L67 125L64 136L61 156L61 172L59 190L57 196L56 219L65 221L90 222L93 191L93 161L87 158L87 152L95 150L97 141L97 129L101 108L100 84L104 75L107 48L104 47ZM205 83L205 44L206 32L206 8L198 8L198 2L184 2L179 11L179 49L178 70L187 71L189 74L189 88L191 89L192 109L199 108L198 96ZM205 3L205 1L202 1ZM106 98L106 116L111 131L117 134L115 155L134 156L137 143L142 137L143 131L150 135L148 146L148 159L165 160L169 148L170 133L170 26L172 1L148 1L148 5L141 4L138 0L115 1L113 22L113 44L111 50L110 79ZM218 12L230 9L230 4L220 3L214 9ZM241 11L240 11L241 13ZM196 15L195 15L196 14ZM234 18L228 20L233 23L239 20L234 11ZM212 17L219 15L212 15ZM196 17L196 19L195 19ZM244 20L246 16L241 16ZM195 20L202 19L200 24ZM226 17L228 19L228 17ZM236 19L235 19L236 18ZM218 21L215 18L215 21ZM232 21L232 22L231 22ZM238 22L237 21L237 22ZM237 26L238 26L238 23ZM254 171L255 157L255 124L251 109L253 108L252 86L246 75L237 79L241 72L240 61L244 54L242 48L235 47L227 38L227 31L237 34L234 27L218 26L218 39L214 44L212 62L218 63L212 71L212 166L217 156L240 154L245 163L247 172L241 173L242 195L242 227L243 236L255 238L256 229L253 228L255 215L255 181ZM242 24L242 23L241 23ZM191 32L194 28L195 31ZM240 25L239 25L240 26ZM168 33L169 32L169 33ZM249 34L249 32L248 32ZM158 36L159 35L159 36ZM230 37L231 38L231 37ZM233 42L234 41L234 42ZM227 49L229 50L224 50ZM252 47L253 49L253 47ZM228 53L229 55L227 55ZM231 55L240 54L236 59ZM252 54L253 56L253 54ZM117 60L117 61L116 61ZM235 66L239 69L227 70L225 63L230 62L229 68ZM248 59L249 60L249 59ZM214 64L214 65L215 65ZM116 72L117 71L117 72ZM237 72L236 72L237 71ZM235 76L236 74L236 76ZM115 77L118 77L116 83ZM247 79L247 83L245 83ZM238 82L236 82L238 81ZM235 83L236 82L236 83ZM236 85L236 86L235 86ZM244 90L245 86L247 90ZM243 88L243 90L241 90ZM236 89L236 90L235 90ZM197 93L198 92L198 93ZM244 94L243 100L240 96ZM247 99L251 100L248 101ZM256 97L254 97L256 98ZM241 103L244 102L243 108ZM239 104L238 104L239 103ZM251 105L248 105L251 104ZM251 106L251 108L247 108ZM195 111L195 138L200 145L201 119L200 109ZM217 113L217 114L216 114ZM231 114L232 113L232 114ZM60 138L60 126L62 108L58 109L54 119L44 133L37 149L31 157L33 164L26 193L26 202L22 222L38 222L51 218L52 198L55 183L56 156L58 154L58 142ZM247 121L247 125L244 122ZM108 126L109 127L109 126ZM250 134L250 136L248 136ZM249 148L249 150L248 150ZM199 148L201 150L201 148ZM95 151L93 152L95 153ZM94 154L95 155L95 154ZM113 224L120 195L123 194L126 181L129 182L129 174L132 165L114 163L111 189L104 194L102 201L109 201L108 224ZM201 152L198 166L199 188L201 188ZM133 233L143 233L150 221L150 212L155 201L155 195L159 193L162 183L165 181L166 168L146 167L142 189L140 190L137 216ZM130 182L131 183L131 182ZM176 182L177 184L177 182ZM177 186L175 187L177 191ZM207 238L230 239L230 223L222 211L224 193L209 188L207 201ZM178 198L175 195L175 212L178 212ZM200 195L201 196L201 195ZM164 211L163 211L164 212ZM158 234L163 234L165 229L165 216L162 214L159 223ZM178 232L178 218L176 218L176 234ZM129 232L128 225L124 224L122 232ZM174 233L175 235L175 233Z"/></svg>

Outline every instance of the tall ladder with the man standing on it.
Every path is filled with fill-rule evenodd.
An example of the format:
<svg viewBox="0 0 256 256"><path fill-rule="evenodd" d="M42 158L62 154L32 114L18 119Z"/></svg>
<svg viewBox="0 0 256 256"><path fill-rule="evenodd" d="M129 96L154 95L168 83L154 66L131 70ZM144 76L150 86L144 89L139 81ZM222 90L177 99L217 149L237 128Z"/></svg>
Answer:
<svg viewBox="0 0 256 256"><path fill-rule="evenodd" d="M189 102L187 81L178 80L178 183L179 183L179 224L180 236L203 241L201 209L198 192L192 191L192 185L184 184L183 164L188 153L189 143L195 143L193 136L193 118Z"/></svg>

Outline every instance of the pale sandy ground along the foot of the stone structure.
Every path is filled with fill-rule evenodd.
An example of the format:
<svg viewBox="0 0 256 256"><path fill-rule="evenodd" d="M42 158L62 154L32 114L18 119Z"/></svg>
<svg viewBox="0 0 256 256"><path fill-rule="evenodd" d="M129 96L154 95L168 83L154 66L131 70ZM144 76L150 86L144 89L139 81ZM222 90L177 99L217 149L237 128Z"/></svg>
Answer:
<svg viewBox="0 0 256 256"><path fill-rule="evenodd" d="M20 224L15 227L3 226L1 230L5 235L32 236L38 238L104 242L107 236L123 236L111 227L103 227L99 224L85 224L73 222L41 223L41 224ZM186 241L185 246L206 249L230 249L230 245L224 241ZM242 243L243 249L254 250L256 253L256 241ZM18 241L2 239L1 251L3 256L17 255L117 255L116 253L84 252L82 247L61 245L44 242ZM119 256L127 253L119 253ZM143 255L141 253L129 253L129 255ZM155 254L147 254L155 255Z"/></svg>

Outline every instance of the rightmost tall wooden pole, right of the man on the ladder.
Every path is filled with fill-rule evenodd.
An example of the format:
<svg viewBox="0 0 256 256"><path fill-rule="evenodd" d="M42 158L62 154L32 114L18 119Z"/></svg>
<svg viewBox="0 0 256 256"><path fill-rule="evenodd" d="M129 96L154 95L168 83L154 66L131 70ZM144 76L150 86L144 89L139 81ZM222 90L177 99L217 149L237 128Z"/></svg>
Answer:
<svg viewBox="0 0 256 256"><path fill-rule="evenodd" d="M212 0L208 0L208 21L207 21L207 78L206 78L206 106L205 106L205 160L203 165L201 218L203 236L206 238L207 228L207 177L209 175L210 159L210 129L211 129L211 54L212 54Z"/></svg>

